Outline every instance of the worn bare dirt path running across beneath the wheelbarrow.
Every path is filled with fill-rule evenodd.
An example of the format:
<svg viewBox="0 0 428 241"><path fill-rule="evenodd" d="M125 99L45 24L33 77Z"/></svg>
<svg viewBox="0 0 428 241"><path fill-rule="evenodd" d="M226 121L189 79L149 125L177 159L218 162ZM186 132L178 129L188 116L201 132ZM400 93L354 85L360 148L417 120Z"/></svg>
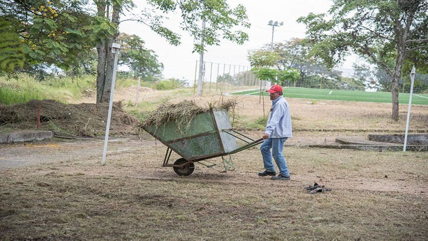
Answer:
<svg viewBox="0 0 428 241"><path fill-rule="evenodd" d="M324 137L309 138L311 142L323 139ZM322 140L323 141L323 140ZM293 138L288 145L307 144L308 138ZM23 168L33 169L34 174L46 174L51 169L38 168L40 165L55 166L53 170L62 173L85 173L86 175L96 176L127 176L131 178L155 179L155 180L189 180L200 183L217 183L217 184L235 184L251 186L281 186L281 187L305 187L313 185L314 182L325 185L331 189L347 190L366 190L379 192L399 192L409 194L422 194L426 196L427 188L423 178L415 179L391 179L391 178L366 178L352 177L343 175L316 175L316 174L293 174L291 182L275 182L268 177L258 177L257 169L241 169L228 173L219 173L198 164L197 171L189 177L177 176L172 168L161 168L161 158L165 147L160 143L155 145L152 138L145 140L130 138L111 139L108 146L107 164L116 163L119 160L127 162L135 160L134 164L121 164L116 167L101 167L93 165L100 163L103 150L103 140L76 140L71 142L52 141L40 142L34 144L14 144L0 146L0 169L19 170ZM146 152L151 150L152 153ZM308 149L301 149L302 151ZM325 150L328 152L329 150ZM155 152L156 154L154 154ZM153 155L154 154L154 155ZM142 164L139 160L146 158L148 165ZM139 162L138 162L139 161ZM88 163L89 162L89 163ZM72 165L80 163L82 165ZM63 165L61 165L63 164ZM92 165L92 166L89 166Z"/></svg>

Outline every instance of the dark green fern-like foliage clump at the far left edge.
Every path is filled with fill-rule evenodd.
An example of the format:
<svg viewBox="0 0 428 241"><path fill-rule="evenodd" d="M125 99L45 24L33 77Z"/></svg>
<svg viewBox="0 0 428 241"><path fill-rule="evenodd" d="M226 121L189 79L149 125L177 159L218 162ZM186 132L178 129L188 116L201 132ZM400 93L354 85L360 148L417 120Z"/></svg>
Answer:
<svg viewBox="0 0 428 241"><path fill-rule="evenodd" d="M0 16L0 70L12 72L15 67L23 67L25 56L21 38L16 29Z"/></svg>

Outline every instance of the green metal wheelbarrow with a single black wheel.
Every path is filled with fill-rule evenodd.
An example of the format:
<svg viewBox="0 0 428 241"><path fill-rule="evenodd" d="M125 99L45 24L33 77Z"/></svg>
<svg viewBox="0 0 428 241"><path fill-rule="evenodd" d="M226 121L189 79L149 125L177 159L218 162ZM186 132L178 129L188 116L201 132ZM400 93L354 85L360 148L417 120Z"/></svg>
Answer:
<svg viewBox="0 0 428 241"><path fill-rule="evenodd" d="M211 109L209 112L197 114L185 125L167 122L158 127L146 125L142 129L167 146L162 166L172 167L180 176L192 174L196 162L213 167L216 164L205 160L220 156L224 171L234 170L231 154L263 142L263 138L254 140L232 129L226 110ZM238 147L235 138L242 140L246 145ZM181 156L174 164L169 163L172 151Z"/></svg>

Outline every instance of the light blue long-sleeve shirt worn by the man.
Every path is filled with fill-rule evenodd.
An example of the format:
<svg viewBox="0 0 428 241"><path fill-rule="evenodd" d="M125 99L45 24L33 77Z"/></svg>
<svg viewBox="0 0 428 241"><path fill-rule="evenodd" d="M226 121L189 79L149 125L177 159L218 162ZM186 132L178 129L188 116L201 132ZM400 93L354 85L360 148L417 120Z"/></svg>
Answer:
<svg viewBox="0 0 428 241"><path fill-rule="evenodd" d="M264 133L270 138L293 137L290 107L286 99L282 96L274 99L271 110Z"/></svg>

